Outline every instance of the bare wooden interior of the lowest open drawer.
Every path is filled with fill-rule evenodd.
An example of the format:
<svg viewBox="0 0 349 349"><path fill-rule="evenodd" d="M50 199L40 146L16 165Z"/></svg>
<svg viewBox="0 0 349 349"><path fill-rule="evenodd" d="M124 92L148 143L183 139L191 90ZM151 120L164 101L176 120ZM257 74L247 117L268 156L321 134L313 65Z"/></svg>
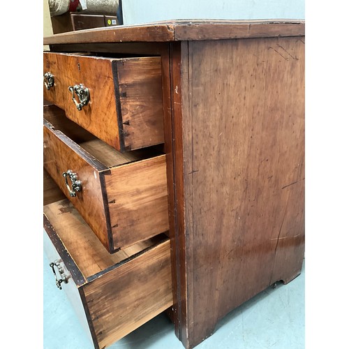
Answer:
<svg viewBox="0 0 349 349"><path fill-rule="evenodd" d="M158 235L110 254L69 200L52 202L45 205L43 210L86 279L166 238L165 235Z"/></svg>

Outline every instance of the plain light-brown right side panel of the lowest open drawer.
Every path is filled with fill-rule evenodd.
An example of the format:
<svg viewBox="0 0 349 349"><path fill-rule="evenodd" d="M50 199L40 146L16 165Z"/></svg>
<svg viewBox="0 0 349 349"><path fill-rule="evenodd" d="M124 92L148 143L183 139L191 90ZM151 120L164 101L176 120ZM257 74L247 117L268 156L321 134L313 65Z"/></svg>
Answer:
<svg viewBox="0 0 349 349"><path fill-rule="evenodd" d="M126 336L172 305L170 242L88 283L84 295L99 348Z"/></svg>

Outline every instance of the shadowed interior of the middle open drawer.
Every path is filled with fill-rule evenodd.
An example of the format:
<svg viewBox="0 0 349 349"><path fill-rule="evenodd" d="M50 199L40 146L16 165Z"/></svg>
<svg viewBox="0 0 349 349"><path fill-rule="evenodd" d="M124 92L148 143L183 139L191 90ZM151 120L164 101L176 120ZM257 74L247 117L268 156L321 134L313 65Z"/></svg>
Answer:
<svg viewBox="0 0 349 349"><path fill-rule="evenodd" d="M65 116L64 111L58 107L50 106L47 108L47 112L45 112L44 109L44 118L52 124L55 131L61 131L64 135L67 135L68 138L79 144L80 147L108 168L153 158L154 156L163 154L162 144L121 153L84 130L81 126L75 124L75 122L70 121Z"/></svg>

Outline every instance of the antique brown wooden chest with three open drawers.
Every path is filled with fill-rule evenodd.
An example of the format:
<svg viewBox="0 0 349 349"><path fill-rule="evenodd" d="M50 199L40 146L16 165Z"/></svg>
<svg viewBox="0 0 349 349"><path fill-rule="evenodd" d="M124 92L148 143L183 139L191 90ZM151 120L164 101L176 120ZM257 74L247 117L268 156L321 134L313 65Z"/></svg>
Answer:
<svg viewBox="0 0 349 349"><path fill-rule="evenodd" d="M94 272L82 272L79 302L93 292L111 299L122 292L106 281L110 268L115 280L132 270L128 285L142 265L161 290L140 322L132 314L121 322L91 317L97 348L171 303L175 333L193 348L229 311L299 275L304 22L174 21L59 34L44 44L51 50L45 83L54 80L44 96L56 105L44 112L45 169L69 199L55 197L46 216L55 220L51 207L81 214L96 239L87 260L96 246L116 256L135 248L125 263L113 260L97 272L106 288ZM59 228L52 232L66 221L59 217L45 223L51 242L66 239ZM168 253L170 281L162 269ZM147 283L151 294L154 287ZM90 313L103 313L90 305Z"/></svg>

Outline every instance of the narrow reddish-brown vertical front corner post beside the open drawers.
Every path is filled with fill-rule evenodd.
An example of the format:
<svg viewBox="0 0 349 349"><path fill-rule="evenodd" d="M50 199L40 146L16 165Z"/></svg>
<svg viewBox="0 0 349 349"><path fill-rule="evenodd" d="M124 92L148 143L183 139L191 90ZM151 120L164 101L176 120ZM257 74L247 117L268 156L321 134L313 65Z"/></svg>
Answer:
<svg viewBox="0 0 349 349"><path fill-rule="evenodd" d="M173 318L174 331L177 337L186 346L186 249L184 230L183 207L183 136L182 98L189 98L186 91L181 89L181 74L185 74L186 65L181 65L181 54L187 51L187 43L172 43L170 45L170 107L171 112L165 114L165 149L167 158L168 193L169 193L169 220L170 242L172 248L172 285L173 285ZM186 57L186 56L185 56Z"/></svg>

